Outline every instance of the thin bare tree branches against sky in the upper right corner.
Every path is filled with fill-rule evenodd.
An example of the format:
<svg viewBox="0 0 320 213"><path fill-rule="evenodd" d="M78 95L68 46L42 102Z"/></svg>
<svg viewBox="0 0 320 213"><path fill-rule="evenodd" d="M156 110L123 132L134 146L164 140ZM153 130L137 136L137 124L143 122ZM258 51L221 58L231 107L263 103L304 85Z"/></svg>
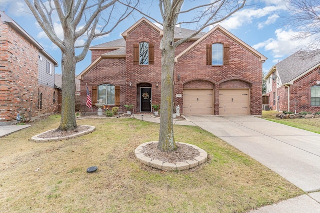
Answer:
<svg viewBox="0 0 320 213"><path fill-rule="evenodd" d="M311 42L302 49L320 51L320 0L286 0L286 7L289 15L284 24L298 32L294 39L311 37Z"/></svg>

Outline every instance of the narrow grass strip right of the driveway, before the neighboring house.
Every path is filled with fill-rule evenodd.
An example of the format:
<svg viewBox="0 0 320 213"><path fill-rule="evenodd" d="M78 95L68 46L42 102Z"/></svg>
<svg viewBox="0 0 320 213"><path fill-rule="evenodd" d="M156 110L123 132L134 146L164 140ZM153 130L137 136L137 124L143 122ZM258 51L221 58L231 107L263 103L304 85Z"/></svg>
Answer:
<svg viewBox="0 0 320 213"><path fill-rule="evenodd" d="M320 134L320 118L294 118L294 119L281 119L275 117L276 114L280 112L275 111L262 111L262 118L269 121L277 122L280 124L285 124L287 126L296 127L299 129L304 129L310 132L315 132Z"/></svg>

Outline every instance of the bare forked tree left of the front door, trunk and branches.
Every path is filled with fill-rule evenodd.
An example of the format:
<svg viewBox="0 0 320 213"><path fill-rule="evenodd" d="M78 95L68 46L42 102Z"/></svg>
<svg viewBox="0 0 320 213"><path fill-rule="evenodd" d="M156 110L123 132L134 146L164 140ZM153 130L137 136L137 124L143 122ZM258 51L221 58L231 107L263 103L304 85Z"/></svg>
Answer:
<svg viewBox="0 0 320 213"><path fill-rule="evenodd" d="M132 11L118 9L117 0L24 0L49 39L61 50L62 103L59 130L76 128L75 65L85 57L91 41L110 33ZM130 3L127 3L130 5ZM120 4L119 4L120 5ZM123 5L121 5L123 7ZM130 10L130 11L129 11ZM105 11L105 14L102 11ZM63 30L55 28L58 18ZM108 28L108 29L107 29ZM77 44L79 40L83 43ZM78 49L79 54L76 54Z"/></svg>

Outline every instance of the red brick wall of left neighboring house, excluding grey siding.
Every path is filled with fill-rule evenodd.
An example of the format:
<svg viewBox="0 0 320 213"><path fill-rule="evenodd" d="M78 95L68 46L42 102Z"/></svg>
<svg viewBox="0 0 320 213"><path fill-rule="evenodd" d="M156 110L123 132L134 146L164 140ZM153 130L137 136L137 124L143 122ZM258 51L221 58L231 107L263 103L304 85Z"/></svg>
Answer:
<svg viewBox="0 0 320 213"><path fill-rule="evenodd" d="M38 84L38 48L30 40L1 20L0 15L0 124L14 123L16 115L35 117L57 111L53 92ZM38 109L38 91L42 92L42 110Z"/></svg>

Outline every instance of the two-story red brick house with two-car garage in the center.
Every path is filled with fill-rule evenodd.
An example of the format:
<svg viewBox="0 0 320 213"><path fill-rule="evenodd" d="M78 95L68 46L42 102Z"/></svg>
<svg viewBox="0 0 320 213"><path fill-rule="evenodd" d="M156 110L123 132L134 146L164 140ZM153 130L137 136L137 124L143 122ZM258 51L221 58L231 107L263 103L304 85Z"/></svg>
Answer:
<svg viewBox="0 0 320 213"><path fill-rule="evenodd" d="M175 39L193 30L175 27ZM160 104L162 30L141 18L123 38L90 47L92 63L79 75L81 114L88 86L93 111L97 99L107 106L133 104L135 113ZM261 115L262 63L266 57L217 25L175 49L174 105L184 115Z"/></svg>

